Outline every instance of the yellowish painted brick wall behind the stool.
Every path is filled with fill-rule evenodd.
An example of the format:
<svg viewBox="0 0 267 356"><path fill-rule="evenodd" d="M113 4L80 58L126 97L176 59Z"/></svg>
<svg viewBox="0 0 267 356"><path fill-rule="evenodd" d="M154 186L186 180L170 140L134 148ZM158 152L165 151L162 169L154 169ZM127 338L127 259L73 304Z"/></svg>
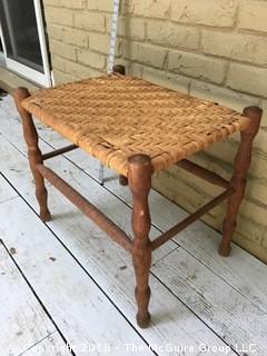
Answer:
<svg viewBox="0 0 267 356"><path fill-rule="evenodd" d="M56 82L106 71L111 0L43 0ZM267 1L122 0L118 62L128 72L190 95L266 113L255 142L235 240L267 261ZM194 160L230 178L239 137ZM187 210L218 189L174 166L154 187ZM225 206L205 220L220 229Z"/></svg>

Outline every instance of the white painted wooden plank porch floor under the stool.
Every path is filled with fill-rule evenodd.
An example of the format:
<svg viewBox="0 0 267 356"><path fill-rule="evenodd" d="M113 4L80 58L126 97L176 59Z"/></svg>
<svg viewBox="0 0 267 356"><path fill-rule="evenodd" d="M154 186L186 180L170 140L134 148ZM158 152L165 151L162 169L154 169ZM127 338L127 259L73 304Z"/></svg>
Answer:
<svg viewBox="0 0 267 356"><path fill-rule="evenodd" d="M70 118L71 120L71 118ZM43 152L66 140L38 123ZM111 171L81 151L48 161L130 231L131 199ZM154 255L151 327L136 326L126 251L48 185L53 219L37 215L21 123L0 101L0 356L267 355L267 266L198 221ZM150 194L151 238L186 216ZM68 350L67 344L72 346ZM149 348L150 346L150 348Z"/></svg>

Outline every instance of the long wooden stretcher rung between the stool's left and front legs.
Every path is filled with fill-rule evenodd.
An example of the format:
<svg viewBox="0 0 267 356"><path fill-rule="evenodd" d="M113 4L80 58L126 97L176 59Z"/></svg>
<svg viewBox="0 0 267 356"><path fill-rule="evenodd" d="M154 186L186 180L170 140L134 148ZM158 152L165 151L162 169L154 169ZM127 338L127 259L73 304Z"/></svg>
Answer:
<svg viewBox="0 0 267 356"><path fill-rule="evenodd" d="M50 184L66 196L78 209L80 209L87 217L89 217L101 230L103 230L112 240L122 246L126 250L131 253L131 240L120 227L111 221L97 207L82 197L77 190L68 185L50 168L43 165L36 166L38 171Z"/></svg>

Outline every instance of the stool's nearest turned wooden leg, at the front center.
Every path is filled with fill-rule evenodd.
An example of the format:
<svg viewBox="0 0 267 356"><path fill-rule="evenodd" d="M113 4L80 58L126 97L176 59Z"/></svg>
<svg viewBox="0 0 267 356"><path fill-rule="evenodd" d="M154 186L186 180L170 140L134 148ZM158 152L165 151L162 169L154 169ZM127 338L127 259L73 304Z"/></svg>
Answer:
<svg viewBox="0 0 267 356"><path fill-rule="evenodd" d="M151 227L148 195L151 188L152 166L150 157L135 155L129 158L128 180L132 194L132 261L136 271L136 300L138 305L137 324L146 328L150 322L148 305L150 288L148 285L151 267Z"/></svg>

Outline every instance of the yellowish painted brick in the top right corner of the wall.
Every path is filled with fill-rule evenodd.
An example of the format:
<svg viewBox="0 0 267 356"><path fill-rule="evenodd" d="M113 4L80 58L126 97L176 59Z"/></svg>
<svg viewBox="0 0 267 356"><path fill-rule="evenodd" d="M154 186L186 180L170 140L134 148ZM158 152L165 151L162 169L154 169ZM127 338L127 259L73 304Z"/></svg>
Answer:
<svg viewBox="0 0 267 356"><path fill-rule="evenodd" d="M239 28L267 32L267 2L247 1L241 4Z"/></svg>

